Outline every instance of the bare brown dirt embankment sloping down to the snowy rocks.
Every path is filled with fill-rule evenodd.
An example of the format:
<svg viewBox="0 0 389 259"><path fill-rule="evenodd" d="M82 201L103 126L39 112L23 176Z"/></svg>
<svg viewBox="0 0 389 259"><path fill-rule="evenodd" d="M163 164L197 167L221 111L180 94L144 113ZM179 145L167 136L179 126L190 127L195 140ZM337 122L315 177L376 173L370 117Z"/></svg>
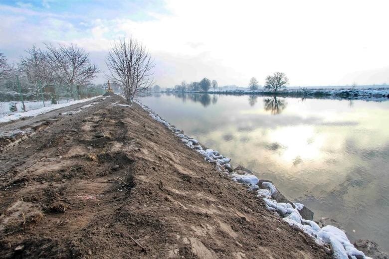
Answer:
<svg viewBox="0 0 389 259"><path fill-rule="evenodd" d="M115 102L44 118L55 120L0 154L0 258L331 258Z"/></svg>

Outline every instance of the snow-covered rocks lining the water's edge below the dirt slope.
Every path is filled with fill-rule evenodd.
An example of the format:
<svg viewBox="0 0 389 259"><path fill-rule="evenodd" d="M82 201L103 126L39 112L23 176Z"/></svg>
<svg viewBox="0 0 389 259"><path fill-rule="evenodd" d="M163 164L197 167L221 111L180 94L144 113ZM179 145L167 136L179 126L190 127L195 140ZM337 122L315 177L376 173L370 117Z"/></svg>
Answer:
<svg viewBox="0 0 389 259"><path fill-rule="evenodd" d="M300 215L300 211L304 208L303 204L277 202L275 197L279 194L272 183L261 181L249 172L241 170L234 172L230 165L231 159L223 157L219 152L213 149L204 150L196 139L185 135L183 130L170 125L147 106L140 102L137 103L147 111L154 120L172 130L185 145L200 153L205 161L213 163L219 173L230 177L231 180L237 183L247 186L248 191L256 191L257 197L263 199L265 206L269 211L282 217L292 228L299 229L311 236L319 245L329 245L331 247L331 252L336 259L370 259L351 244L342 230L330 225L320 228L316 222L304 219ZM259 183L260 186L257 185Z"/></svg>

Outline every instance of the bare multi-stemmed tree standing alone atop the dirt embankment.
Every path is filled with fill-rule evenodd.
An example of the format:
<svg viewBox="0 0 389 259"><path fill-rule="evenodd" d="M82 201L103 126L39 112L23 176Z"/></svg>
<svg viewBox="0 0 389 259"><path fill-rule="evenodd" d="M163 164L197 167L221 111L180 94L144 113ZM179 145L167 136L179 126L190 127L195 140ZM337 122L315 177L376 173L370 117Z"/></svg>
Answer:
<svg viewBox="0 0 389 259"><path fill-rule="evenodd" d="M135 96L154 84L151 55L142 43L132 37L115 42L106 63L110 79L120 85L130 105Z"/></svg>

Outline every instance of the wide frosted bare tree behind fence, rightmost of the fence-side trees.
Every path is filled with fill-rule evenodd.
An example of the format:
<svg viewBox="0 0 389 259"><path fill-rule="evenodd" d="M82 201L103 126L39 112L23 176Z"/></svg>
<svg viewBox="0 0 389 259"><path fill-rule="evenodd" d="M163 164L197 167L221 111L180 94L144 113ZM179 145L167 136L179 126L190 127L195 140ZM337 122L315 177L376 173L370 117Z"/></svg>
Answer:
<svg viewBox="0 0 389 259"><path fill-rule="evenodd" d="M46 58L51 69L61 81L70 86L71 93L73 85L76 85L80 98L80 85L87 84L100 72L96 65L89 61L89 53L73 44L70 46L59 44L58 48L46 44L46 47Z"/></svg>

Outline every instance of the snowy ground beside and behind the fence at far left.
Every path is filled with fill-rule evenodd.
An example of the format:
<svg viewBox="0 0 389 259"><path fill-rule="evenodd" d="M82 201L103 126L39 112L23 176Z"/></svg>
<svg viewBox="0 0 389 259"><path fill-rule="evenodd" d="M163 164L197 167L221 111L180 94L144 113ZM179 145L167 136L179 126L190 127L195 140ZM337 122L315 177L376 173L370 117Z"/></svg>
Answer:
<svg viewBox="0 0 389 259"><path fill-rule="evenodd" d="M0 123L6 123L14 120L19 120L20 118L24 117L33 117L37 116L39 114L44 114L56 109L60 109L63 107L71 106L74 104L84 103L88 102L90 100L93 100L95 98L98 98L101 96L92 97L89 99L82 99L77 101L69 101L66 100L60 100L59 104L51 104L51 102L45 102L46 107L43 107L42 102L24 102L26 112L23 112L22 104L21 102L2 102L0 103ZM17 112L10 112L9 111L9 105L10 104L16 104Z"/></svg>

